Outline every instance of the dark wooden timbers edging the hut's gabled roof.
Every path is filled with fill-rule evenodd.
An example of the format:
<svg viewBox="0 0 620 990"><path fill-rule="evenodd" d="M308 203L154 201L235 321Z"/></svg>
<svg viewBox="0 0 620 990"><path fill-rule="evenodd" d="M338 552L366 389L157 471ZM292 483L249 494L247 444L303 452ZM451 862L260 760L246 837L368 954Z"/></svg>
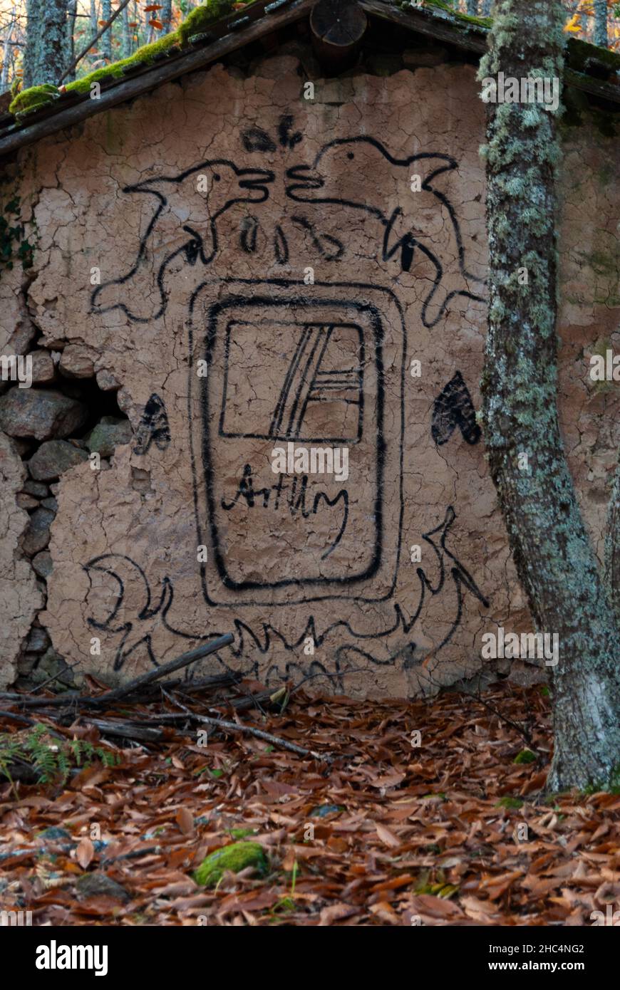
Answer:
<svg viewBox="0 0 620 990"><path fill-rule="evenodd" d="M113 62L104 69L98 69L77 80L83 84L96 75L101 85L97 99L91 99L88 92L79 92L79 87L73 86L57 97L52 95L50 102L37 106L25 115L28 123L16 123L8 114L0 116L0 156L141 96L181 75L203 68L263 35L301 20L310 13L315 2L316 0L250 0L246 9L236 10L225 18L210 22L207 33L195 35L189 40L185 38L183 47L169 42L148 62L132 59L120 76L115 72L115 66L125 65L127 60ZM491 20L460 14L442 0L425 0L422 7L412 6L407 0L400 5L393 0L358 2L366 14L433 41L466 49L476 55L486 50ZM212 3L215 7L215 0ZM195 8L192 13L200 9ZM155 47L156 45L144 48ZM567 51L565 81L568 85L620 104L620 86L608 81L610 76L614 73L617 75L620 71L620 55L572 38L568 40ZM578 68L572 67L575 65Z"/></svg>

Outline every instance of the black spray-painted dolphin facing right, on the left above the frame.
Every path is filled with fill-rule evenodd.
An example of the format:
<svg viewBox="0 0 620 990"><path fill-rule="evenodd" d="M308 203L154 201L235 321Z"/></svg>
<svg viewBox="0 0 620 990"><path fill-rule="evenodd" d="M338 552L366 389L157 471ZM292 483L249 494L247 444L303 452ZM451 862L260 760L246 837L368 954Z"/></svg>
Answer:
<svg viewBox="0 0 620 990"><path fill-rule="evenodd" d="M187 239L180 247L175 247L173 251L165 255L154 273L155 284L152 291L158 300L155 304L155 312L149 317L138 316L132 310L131 292L128 290L131 290L132 281L138 272L141 270L149 272L150 270L149 245L157 222L162 213L168 209L174 210L176 207L182 214L183 208L186 208L187 191L195 188L199 176L204 177L207 190L204 207L205 217L201 229L197 230L188 224L182 225L181 229L187 235ZM155 207L155 213L141 239L134 265L125 275L103 282L94 289L90 297L91 311L108 313L114 309L121 309L130 320L136 323L149 323L151 320L158 319L165 312L167 306L165 274L174 260L179 259L190 265L196 264L199 260L203 265L210 264L218 249L219 218L236 203L261 203L266 200L268 183L273 181L273 177L272 171L238 168L233 161L227 158L214 158L201 161L200 164L187 168L179 175L146 179L137 185L126 186L123 190L124 193L155 196L158 205ZM224 190L223 197L218 196L219 187ZM231 188L234 190L232 195L230 194ZM108 304L105 301L106 294L111 296Z"/></svg>

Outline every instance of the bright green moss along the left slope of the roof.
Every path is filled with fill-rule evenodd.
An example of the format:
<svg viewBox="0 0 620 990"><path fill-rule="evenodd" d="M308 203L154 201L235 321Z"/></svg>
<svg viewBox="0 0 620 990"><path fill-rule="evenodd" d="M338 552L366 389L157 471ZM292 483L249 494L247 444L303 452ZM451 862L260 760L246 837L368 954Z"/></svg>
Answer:
<svg viewBox="0 0 620 990"><path fill-rule="evenodd" d="M134 51L129 58L122 58L120 61L111 62L102 68L89 72L88 75L69 82L64 87L67 93L88 94L93 82L102 80L122 79L128 68L136 65L151 65L155 59L161 55L170 54L186 48L192 39L197 35L204 34L210 25L215 21L220 21L223 17L228 17L235 9L238 0L205 0L200 7L196 7L178 26L176 31L169 35L164 35L152 45L143 45L142 48ZM246 6L254 3L255 0L247 0ZM51 103L60 95L60 90L56 86L46 83L44 86L32 86L21 92L9 106L9 112L21 120L26 114L39 110L47 103Z"/></svg>

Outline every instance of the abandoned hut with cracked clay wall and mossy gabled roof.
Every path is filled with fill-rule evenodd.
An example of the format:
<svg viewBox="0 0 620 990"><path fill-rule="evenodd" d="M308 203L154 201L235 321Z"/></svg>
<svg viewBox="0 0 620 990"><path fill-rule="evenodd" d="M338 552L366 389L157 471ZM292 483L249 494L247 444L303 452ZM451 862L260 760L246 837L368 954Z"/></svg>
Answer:
<svg viewBox="0 0 620 990"><path fill-rule="evenodd" d="M257 2L5 101L0 685L114 683L230 632L201 676L411 696L532 629L476 420L487 30ZM561 419L601 554L617 62L568 43L562 123Z"/></svg>

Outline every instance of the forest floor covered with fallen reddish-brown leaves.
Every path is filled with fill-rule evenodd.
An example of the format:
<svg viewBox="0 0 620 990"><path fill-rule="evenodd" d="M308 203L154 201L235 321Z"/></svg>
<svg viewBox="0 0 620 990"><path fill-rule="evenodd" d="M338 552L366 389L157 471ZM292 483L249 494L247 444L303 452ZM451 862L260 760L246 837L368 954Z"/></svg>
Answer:
<svg viewBox="0 0 620 990"><path fill-rule="evenodd" d="M65 785L0 783L0 909L35 925L578 926L620 898L620 797L545 796L540 686L432 704L298 695L242 718L336 758L166 730ZM243 840L266 873L197 886L203 858Z"/></svg>

